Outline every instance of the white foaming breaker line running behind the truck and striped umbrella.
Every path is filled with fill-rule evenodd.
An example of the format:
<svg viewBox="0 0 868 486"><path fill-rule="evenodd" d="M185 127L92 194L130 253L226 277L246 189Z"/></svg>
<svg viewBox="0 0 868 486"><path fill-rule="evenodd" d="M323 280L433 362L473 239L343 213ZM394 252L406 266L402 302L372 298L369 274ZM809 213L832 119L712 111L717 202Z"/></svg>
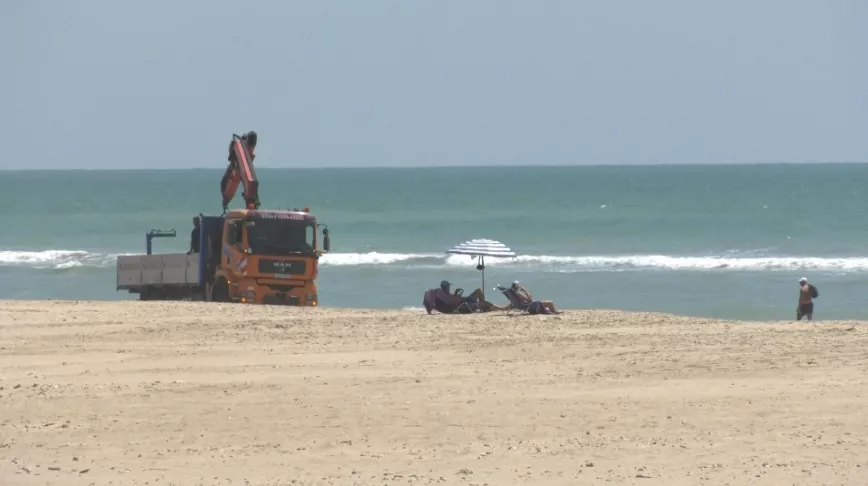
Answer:
<svg viewBox="0 0 868 486"><path fill-rule="evenodd" d="M123 254L92 253L83 250L2 251L0 268L29 267L70 270L75 268L112 268ZM321 259L324 267L391 266L395 268L437 268L476 265L476 260L463 255L426 253L330 253ZM732 256L553 256L522 255L515 259L486 258L486 266L510 266L545 272L588 272L628 270L670 271L868 271L868 258L841 257L742 257Z"/></svg>

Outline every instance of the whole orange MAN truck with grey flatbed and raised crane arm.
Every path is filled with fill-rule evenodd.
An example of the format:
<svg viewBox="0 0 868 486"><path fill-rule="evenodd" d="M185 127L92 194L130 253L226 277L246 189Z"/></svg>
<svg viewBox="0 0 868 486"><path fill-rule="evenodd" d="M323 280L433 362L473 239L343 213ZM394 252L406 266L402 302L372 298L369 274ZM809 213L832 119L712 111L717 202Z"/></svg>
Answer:
<svg viewBox="0 0 868 486"><path fill-rule="evenodd" d="M153 254L151 240L175 236L152 230L143 255L117 261L117 290L140 300L205 300L246 304L317 306L319 258L331 248L328 227L309 208L259 208L253 171L256 133L233 135L229 167L221 181L223 214L194 218L188 253ZM228 209L238 186L244 209ZM322 234L322 238L319 235ZM321 240L321 243L320 243Z"/></svg>

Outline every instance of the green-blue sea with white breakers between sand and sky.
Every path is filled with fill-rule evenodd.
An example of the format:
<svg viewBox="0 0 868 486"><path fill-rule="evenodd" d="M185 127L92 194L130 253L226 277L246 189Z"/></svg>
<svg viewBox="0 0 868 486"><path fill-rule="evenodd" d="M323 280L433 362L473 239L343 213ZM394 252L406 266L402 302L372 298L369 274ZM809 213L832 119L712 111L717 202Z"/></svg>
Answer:
<svg viewBox="0 0 868 486"><path fill-rule="evenodd" d="M0 172L0 298L132 299L115 258L187 248L193 215L221 212L221 170ZM258 170L264 208L309 205L332 232L321 305L419 307L481 272L445 250L473 238L485 290L522 281L563 308L791 319L799 277L816 319L868 315L868 165ZM233 207L239 206L235 201Z"/></svg>

